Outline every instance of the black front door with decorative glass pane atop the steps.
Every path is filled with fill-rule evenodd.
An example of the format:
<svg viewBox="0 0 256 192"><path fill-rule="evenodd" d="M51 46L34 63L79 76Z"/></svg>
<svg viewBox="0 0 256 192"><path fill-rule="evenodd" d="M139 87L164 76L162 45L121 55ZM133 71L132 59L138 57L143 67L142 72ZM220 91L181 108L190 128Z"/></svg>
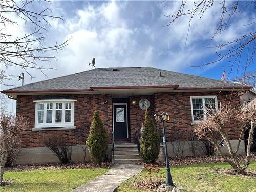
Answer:
<svg viewBox="0 0 256 192"><path fill-rule="evenodd" d="M114 105L114 137L115 139L127 138L127 118L126 118L126 105Z"/></svg>

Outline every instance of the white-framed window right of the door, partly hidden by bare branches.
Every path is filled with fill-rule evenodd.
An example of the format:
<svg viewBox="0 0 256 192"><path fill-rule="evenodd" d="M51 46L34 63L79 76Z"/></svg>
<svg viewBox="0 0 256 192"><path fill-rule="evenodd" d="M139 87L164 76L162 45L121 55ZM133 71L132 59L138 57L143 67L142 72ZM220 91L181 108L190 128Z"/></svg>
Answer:
<svg viewBox="0 0 256 192"><path fill-rule="evenodd" d="M207 113L218 109L217 96L191 96L192 121L199 122L207 118Z"/></svg>

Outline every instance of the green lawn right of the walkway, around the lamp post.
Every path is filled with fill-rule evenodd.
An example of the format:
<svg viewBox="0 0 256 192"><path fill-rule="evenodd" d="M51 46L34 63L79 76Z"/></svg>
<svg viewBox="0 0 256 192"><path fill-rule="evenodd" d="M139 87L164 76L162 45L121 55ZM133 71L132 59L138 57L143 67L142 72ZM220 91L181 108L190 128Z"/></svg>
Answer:
<svg viewBox="0 0 256 192"><path fill-rule="evenodd" d="M214 173L216 169L231 169L231 167L226 163L172 167L173 181L175 184L184 188L185 191L256 191L255 175L225 175ZM152 171L151 174L147 170L143 170L137 176L122 183L117 191L142 191L136 188L136 183L148 177L157 177L164 182L165 170L165 168L160 168L159 172ZM256 171L256 162L252 162L248 170Z"/></svg>

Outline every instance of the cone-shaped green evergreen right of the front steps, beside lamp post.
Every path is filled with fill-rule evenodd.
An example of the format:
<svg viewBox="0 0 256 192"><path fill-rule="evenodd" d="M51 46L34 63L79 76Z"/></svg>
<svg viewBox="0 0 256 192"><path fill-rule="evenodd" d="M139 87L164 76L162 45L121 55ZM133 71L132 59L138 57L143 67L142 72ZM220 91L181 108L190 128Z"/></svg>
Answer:
<svg viewBox="0 0 256 192"><path fill-rule="evenodd" d="M146 110L144 130L141 136L140 155L146 163L155 163L160 151L160 137L157 133L155 123Z"/></svg>

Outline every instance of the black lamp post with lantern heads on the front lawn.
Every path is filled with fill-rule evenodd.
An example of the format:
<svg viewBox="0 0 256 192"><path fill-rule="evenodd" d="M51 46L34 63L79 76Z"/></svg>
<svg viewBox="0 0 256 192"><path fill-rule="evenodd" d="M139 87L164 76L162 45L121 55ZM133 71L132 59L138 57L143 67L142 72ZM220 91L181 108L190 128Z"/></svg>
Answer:
<svg viewBox="0 0 256 192"><path fill-rule="evenodd" d="M167 149L167 143L166 143L166 137L165 137L165 126L164 126L164 123L169 122L170 114L163 112L159 115L156 113L154 117L157 123L161 123L161 122L163 123L163 137L164 137L165 161L166 161L166 186L174 186L172 175L170 174L170 165L169 165L168 149Z"/></svg>

